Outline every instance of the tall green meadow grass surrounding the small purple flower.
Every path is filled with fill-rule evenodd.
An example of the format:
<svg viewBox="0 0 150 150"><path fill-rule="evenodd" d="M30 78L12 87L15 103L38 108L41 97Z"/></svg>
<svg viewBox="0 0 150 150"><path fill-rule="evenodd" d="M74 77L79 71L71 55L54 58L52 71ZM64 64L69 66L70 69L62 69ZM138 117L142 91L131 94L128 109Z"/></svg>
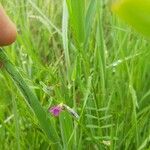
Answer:
<svg viewBox="0 0 150 150"><path fill-rule="evenodd" d="M148 39L105 1L1 3L19 35L0 71L0 149L150 148ZM78 121L48 112L62 102Z"/></svg>

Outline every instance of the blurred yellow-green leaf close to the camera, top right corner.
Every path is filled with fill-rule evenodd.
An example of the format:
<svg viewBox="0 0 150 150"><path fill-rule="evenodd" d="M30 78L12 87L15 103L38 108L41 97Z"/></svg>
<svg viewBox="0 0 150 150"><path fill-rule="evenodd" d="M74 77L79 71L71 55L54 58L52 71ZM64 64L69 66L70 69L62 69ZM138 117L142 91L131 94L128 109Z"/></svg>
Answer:
<svg viewBox="0 0 150 150"><path fill-rule="evenodd" d="M137 31L150 37L149 0L118 0L112 10Z"/></svg>

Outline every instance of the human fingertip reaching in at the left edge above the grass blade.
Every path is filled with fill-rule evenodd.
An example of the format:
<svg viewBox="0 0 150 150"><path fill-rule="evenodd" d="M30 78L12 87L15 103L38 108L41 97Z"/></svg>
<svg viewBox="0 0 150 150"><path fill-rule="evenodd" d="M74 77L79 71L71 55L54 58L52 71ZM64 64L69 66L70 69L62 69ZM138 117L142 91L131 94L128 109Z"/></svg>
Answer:
<svg viewBox="0 0 150 150"><path fill-rule="evenodd" d="M0 46L10 45L16 40L17 30L0 5Z"/></svg>

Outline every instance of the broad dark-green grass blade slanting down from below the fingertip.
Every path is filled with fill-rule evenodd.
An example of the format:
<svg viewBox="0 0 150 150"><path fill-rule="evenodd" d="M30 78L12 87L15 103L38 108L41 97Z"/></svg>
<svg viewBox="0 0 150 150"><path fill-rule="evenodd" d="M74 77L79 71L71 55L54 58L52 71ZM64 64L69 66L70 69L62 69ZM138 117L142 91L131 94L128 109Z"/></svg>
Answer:
<svg viewBox="0 0 150 150"><path fill-rule="evenodd" d="M7 55L5 54L4 50L0 48L0 62L3 64L3 68L8 72L8 74L13 79L14 83L20 89L21 93L23 94L26 102L32 108L33 112L35 113L41 128L46 133L48 138L56 143L58 149L61 149L59 136L55 130L54 125L50 121L50 118L47 116L46 111L41 106L37 96L32 92L29 86L26 84L18 70L14 67L14 65L9 61Z"/></svg>

